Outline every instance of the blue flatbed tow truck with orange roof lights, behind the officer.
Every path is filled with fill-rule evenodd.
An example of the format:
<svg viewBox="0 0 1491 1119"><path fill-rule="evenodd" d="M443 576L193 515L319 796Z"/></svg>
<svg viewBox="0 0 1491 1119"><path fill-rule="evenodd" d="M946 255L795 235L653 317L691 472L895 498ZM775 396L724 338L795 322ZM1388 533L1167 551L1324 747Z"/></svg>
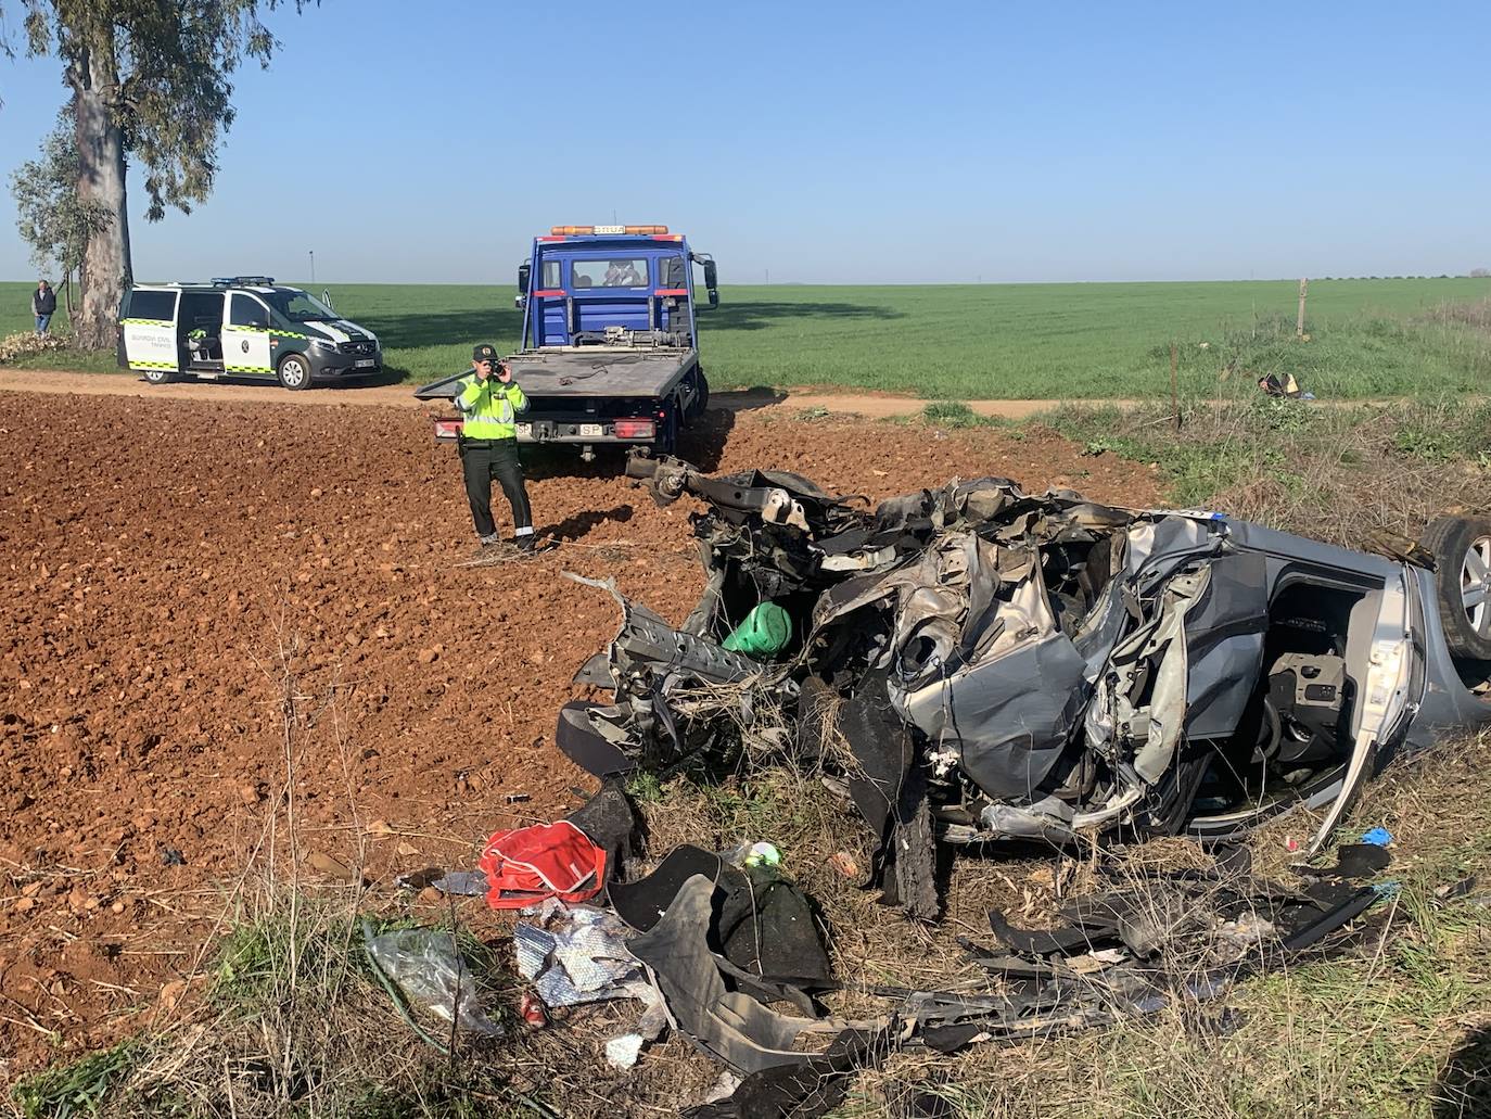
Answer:
<svg viewBox="0 0 1491 1119"><path fill-rule="evenodd" d="M720 304L714 258L666 225L555 225L517 269L520 349L507 358L528 397L520 443L562 443L593 461L598 446L672 454L710 401L699 364L693 267ZM414 389L452 400L468 370ZM437 416L435 437L461 419Z"/></svg>

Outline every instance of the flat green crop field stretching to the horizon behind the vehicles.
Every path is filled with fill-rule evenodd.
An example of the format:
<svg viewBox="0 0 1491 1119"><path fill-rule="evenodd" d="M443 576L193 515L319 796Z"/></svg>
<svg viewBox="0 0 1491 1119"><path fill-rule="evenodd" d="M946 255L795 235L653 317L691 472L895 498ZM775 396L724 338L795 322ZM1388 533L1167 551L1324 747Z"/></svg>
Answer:
<svg viewBox="0 0 1491 1119"><path fill-rule="evenodd" d="M328 285L318 285L321 286ZM422 382L464 367L474 342L517 343L510 285L330 285L377 331L391 369ZM0 333L28 328L30 285L0 283ZM741 286L699 316L716 388L833 386L926 398L1114 398L1209 394L1241 373L1291 372L1321 397L1485 391L1491 336L1439 321L1491 298L1488 279L1314 280L1297 343L1293 280ZM58 363L112 369L112 357ZM1241 376L1235 373L1235 376Z"/></svg>

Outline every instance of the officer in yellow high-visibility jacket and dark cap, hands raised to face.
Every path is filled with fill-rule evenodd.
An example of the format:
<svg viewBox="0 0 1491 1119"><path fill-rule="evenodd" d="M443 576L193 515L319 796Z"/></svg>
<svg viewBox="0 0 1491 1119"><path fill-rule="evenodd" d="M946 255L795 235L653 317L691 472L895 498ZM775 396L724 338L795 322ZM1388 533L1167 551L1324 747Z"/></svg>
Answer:
<svg viewBox="0 0 1491 1119"><path fill-rule="evenodd" d="M471 373L456 385L461 425L461 468L467 500L482 546L502 542L492 521L492 477L502 483L513 506L517 549L534 551L534 516L523 485L523 464L517 461L514 416L528 410L528 397L513 380L513 372L497 357L497 349L480 345L471 351Z"/></svg>

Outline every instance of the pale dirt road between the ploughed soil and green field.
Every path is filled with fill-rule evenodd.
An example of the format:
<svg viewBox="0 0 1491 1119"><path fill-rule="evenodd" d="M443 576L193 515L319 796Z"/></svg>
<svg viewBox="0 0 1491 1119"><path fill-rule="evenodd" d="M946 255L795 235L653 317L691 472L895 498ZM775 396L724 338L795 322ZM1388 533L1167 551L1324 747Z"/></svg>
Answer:
<svg viewBox="0 0 1491 1119"><path fill-rule="evenodd" d="M289 392L268 380L239 377L228 380L194 380L174 385L151 385L143 377L128 373L66 373L60 370L0 370L0 391L19 392L70 392L85 397L125 395L142 400L195 400L222 403L297 403L297 404L359 404L374 407L431 409L431 404L414 400L412 385L371 386L327 386L307 392ZM1059 400L969 400L974 412L983 416L1024 419L1036 412L1057 407ZM1115 401L1124 403L1124 401ZM811 389L790 392L716 392L711 406L729 412L778 407L786 412L823 410L836 415L859 415L866 419L889 419L914 416L927 401L915 397L892 397L884 394L817 392Z"/></svg>

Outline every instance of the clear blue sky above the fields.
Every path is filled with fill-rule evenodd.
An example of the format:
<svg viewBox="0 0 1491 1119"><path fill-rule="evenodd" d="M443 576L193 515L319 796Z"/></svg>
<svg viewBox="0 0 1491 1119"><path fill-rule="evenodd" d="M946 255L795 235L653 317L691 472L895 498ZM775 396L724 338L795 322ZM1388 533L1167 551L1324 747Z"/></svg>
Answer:
<svg viewBox="0 0 1491 1119"><path fill-rule="evenodd" d="M15 31L16 0L0 0ZM649 24L656 12L656 25ZM1491 267L1491 4L476 3L277 12L140 278L511 282L666 222L723 282ZM63 100L0 60L0 170ZM137 181L137 176L131 176ZM0 278L31 276L0 192Z"/></svg>

